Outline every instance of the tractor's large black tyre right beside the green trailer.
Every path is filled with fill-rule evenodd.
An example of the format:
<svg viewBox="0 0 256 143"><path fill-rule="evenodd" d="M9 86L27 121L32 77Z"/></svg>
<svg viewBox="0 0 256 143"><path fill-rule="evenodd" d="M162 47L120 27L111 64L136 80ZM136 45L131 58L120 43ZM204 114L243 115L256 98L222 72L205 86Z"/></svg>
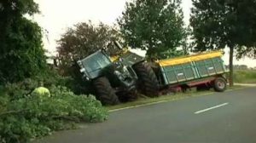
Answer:
<svg viewBox="0 0 256 143"><path fill-rule="evenodd" d="M138 77L137 89L148 97L158 96L159 83L152 67L143 62L133 66L133 69Z"/></svg>

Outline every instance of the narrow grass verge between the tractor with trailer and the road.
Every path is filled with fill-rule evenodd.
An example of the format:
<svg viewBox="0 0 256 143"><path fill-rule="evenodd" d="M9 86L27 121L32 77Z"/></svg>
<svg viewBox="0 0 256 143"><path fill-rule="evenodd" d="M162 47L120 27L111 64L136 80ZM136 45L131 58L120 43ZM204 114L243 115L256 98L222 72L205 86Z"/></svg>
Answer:
<svg viewBox="0 0 256 143"><path fill-rule="evenodd" d="M227 91L233 90L233 89L241 89L241 88L244 88L244 87L236 85L231 88L229 87L227 89ZM189 98L189 97L209 95L209 94L213 94L213 93L214 93L213 89L208 90L208 91L196 91L195 89L191 89L190 91L188 90L186 93L161 95L160 97L157 97L157 98L141 97L138 100L135 100L132 102L127 102L127 103L120 104L117 106L108 106L107 108L108 108L109 112L113 112L113 111L117 111L117 110L123 109L123 108L130 108L132 106L145 106L145 105L157 104L157 103L172 101L172 100L182 100L182 99Z"/></svg>

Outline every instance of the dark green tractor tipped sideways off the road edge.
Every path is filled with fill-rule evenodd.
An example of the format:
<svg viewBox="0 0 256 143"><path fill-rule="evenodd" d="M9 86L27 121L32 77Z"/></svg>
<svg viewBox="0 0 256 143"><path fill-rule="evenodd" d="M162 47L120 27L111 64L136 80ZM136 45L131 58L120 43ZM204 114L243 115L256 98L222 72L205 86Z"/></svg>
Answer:
<svg viewBox="0 0 256 143"><path fill-rule="evenodd" d="M110 57L105 49L79 60L80 72L89 89L87 94L95 94L103 105L116 105L120 101L137 99L137 91L154 97L158 95L157 77L144 58L122 49L122 52Z"/></svg>

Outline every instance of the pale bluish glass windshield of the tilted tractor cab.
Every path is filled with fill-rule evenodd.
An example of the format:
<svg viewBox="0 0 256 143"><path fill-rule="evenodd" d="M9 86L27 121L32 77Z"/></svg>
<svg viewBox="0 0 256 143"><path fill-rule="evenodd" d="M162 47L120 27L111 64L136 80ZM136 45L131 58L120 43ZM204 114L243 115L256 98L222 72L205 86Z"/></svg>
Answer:
<svg viewBox="0 0 256 143"><path fill-rule="evenodd" d="M111 60L109 60L105 54L102 54L101 51L98 51L94 54L90 54L90 56L82 60L82 64L86 72L90 73L99 71L102 68L110 65Z"/></svg>

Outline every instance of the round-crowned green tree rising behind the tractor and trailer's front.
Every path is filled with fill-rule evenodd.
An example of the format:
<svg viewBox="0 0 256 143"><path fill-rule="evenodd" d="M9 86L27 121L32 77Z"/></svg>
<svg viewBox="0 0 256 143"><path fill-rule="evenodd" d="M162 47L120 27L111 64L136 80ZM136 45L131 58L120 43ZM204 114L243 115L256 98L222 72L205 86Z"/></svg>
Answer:
<svg viewBox="0 0 256 143"><path fill-rule="evenodd" d="M181 0L133 0L118 20L125 41L147 50L149 57L167 58L183 46L186 30Z"/></svg>

